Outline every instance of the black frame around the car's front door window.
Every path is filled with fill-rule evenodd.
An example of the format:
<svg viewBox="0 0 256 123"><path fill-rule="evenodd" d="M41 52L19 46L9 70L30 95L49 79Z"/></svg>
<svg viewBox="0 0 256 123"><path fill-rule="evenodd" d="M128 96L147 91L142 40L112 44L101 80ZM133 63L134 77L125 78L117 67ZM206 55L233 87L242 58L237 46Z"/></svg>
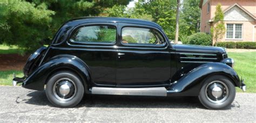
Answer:
<svg viewBox="0 0 256 123"><path fill-rule="evenodd" d="M123 32L123 29L124 28L142 28L142 29L152 29L152 30L156 30L159 35L163 38L163 44L160 44L160 45L156 45L156 44L141 44L141 43L123 43L122 42L122 39L123 39L123 36L122 36L122 32ZM120 29L120 40L119 40L120 44L124 45L124 46L134 46L134 47L164 47L166 46L166 39L165 39L165 36L163 35L163 32L161 32L160 30L156 29L156 28L153 28L153 27L150 27L150 26L137 26L137 25L125 25L125 26L122 26L122 28Z"/></svg>

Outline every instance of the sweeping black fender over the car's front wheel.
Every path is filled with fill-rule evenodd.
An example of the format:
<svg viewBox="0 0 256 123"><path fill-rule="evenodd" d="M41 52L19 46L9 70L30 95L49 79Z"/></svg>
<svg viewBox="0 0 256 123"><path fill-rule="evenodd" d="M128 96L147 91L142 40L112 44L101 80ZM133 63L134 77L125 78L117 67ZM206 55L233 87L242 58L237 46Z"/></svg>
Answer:
<svg viewBox="0 0 256 123"><path fill-rule="evenodd" d="M167 91L168 93L184 93L184 95L198 95L201 83L207 76L212 74L224 74L230 78L235 86L240 87L240 79L232 67L224 63L207 63L196 67L185 76L174 82Z"/></svg>

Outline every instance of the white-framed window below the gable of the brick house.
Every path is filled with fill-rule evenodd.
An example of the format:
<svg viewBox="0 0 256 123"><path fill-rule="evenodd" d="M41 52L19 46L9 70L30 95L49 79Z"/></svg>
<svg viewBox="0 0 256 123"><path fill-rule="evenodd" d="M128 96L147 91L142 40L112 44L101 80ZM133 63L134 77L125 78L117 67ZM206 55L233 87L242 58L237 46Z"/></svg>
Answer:
<svg viewBox="0 0 256 123"><path fill-rule="evenodd" d="M242 24L227 24L227 39L242 39Z"/></svg>

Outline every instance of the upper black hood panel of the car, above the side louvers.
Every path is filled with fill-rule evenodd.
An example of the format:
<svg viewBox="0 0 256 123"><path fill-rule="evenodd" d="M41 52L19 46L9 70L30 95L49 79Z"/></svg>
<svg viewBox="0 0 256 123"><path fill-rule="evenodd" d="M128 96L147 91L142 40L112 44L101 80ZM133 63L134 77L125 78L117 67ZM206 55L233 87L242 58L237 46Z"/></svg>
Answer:
<svg viewBox="0 0 256 123"><path fill-rule="evenodd" d="M226 53L223 47L172 44L177 52L205 52L205 53Z"/></svg>

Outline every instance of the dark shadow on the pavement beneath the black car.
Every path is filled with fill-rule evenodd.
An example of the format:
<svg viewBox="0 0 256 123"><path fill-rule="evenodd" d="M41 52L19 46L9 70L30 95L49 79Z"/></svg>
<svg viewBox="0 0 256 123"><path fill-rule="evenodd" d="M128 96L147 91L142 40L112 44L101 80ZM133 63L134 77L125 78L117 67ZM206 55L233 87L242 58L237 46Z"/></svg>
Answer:
<svg viewBox="0 0 256 123"><path fill-rule="evenodd" d="M48 105L44 91L30 91L17 97L16 103L24 102L31 105ZM107 108L203 108L197 97L142 97L126 95L85 95L76 108L107 107ZM238 107L232 104L226 110Z"/></svg>

